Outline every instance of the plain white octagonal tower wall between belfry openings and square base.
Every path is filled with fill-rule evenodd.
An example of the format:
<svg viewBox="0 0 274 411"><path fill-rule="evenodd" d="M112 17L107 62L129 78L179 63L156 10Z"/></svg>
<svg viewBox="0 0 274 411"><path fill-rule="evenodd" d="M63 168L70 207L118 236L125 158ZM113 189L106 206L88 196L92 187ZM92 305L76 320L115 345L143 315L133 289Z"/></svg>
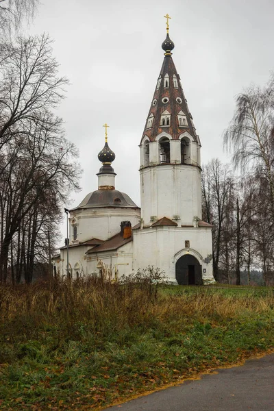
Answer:
<svg viewBox="0 0 274 411"><path fill-rule="evenodd" d="M184 164L147 167L140 170L141 216L151 225L151 216L180 216L180 224L201 219L201 171Z"/></svg>

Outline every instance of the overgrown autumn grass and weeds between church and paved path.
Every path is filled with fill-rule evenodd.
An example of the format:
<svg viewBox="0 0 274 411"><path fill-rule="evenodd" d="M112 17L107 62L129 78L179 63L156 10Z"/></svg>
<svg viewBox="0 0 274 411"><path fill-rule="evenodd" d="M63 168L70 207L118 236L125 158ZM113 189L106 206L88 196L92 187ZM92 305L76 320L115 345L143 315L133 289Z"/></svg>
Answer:
<svg viewBox="0 0 274 411"><path fill-rule="evenodd" d="M226 290L225 290L226 291ZM273 290L0 288L0 409L85 410L273 349Z"/></svg>

